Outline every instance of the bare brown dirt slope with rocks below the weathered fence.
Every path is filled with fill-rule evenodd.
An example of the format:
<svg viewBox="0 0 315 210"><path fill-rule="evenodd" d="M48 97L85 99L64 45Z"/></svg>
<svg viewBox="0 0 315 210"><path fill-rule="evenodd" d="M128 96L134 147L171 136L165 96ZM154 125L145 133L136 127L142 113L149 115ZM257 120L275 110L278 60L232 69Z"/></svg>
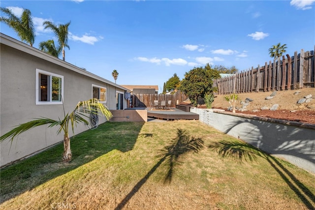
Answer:
<svg viewBox="0 0 315 210"><path fill-rule="evenodd" d="M294 94L301 91L299 94ZM315 88L303 88L299 90L285 90L277 91L274 98L266 100L265 98L270 96L273 91L259 92L259 93L241 93L239 95L240 101L236 104L238 107L242 107L241 101L245 101L247 98L253 101L246 107L247 111L236 111L243 114L254 114L257 116L283 119L296 121L301 123L315 124ZM312 100L309 103L297 104L297 101L307 95L312 95ZM275 111L261 110L263 106L272 107L272 105L279 104L279 107ZM230 106L224 99L224 96L218 95L212 104L213 108L221 108L227 111ZM204 108L204 105L200 106ZM253 111L254 110L254 111Z"/></svg>

